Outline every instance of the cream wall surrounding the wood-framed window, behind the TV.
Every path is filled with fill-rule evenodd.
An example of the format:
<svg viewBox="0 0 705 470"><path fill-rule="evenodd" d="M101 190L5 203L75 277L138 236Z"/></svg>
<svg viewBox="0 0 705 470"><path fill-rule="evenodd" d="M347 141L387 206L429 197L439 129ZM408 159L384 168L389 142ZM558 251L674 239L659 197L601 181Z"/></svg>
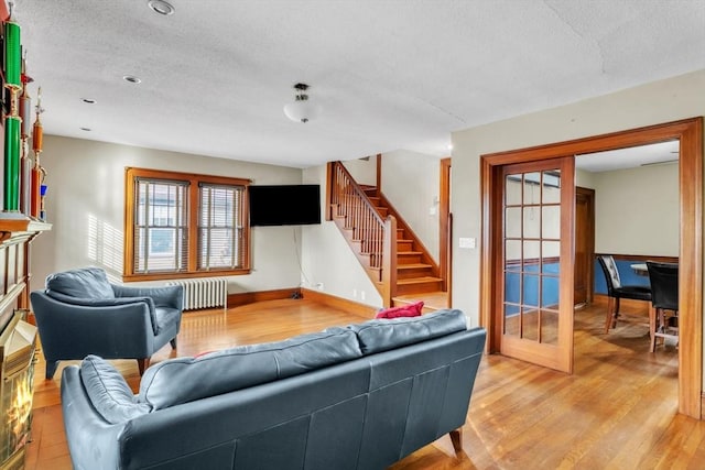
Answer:
<svg viewBox="0 0 705 470"><path fill-rule="evenodd" d="M302 171L175 152L46 135L41 155L46 168L51 231L33 242L31 288L47 274L87 265L102 266L119 280L123 265L124 167L250 178L253 184L300 184ZM300 227L251 230L249 275L232 276L230 293L297 287Z"/></svg>

